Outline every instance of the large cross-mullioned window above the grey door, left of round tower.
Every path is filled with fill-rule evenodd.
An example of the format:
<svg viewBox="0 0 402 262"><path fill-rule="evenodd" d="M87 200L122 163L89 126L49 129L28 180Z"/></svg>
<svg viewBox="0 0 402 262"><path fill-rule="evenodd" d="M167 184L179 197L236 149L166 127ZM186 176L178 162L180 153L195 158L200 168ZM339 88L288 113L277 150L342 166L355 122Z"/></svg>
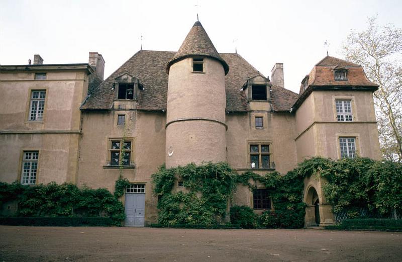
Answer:
<svg viewBox="0 0 402 262"><path fill-rule="evenodd" d="M110 165L130 165L132 141L130 140L111 140Z"/></svg>

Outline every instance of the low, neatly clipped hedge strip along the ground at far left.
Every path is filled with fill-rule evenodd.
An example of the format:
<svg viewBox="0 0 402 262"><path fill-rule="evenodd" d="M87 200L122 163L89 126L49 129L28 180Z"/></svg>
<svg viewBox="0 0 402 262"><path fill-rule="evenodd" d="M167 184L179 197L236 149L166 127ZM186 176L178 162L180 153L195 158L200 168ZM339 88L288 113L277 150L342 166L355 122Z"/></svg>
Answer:
<svg viewBox="0 0 402 262"><path fill-rule="evenodd" d="M109 217L0 217L0 225L9 226L111 226Z"/></svg>

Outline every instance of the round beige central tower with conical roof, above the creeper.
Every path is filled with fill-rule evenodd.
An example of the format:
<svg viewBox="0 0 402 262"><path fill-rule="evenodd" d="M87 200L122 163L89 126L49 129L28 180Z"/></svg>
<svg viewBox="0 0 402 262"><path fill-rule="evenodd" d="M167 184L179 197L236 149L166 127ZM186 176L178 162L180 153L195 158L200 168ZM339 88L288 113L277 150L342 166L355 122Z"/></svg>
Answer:
<svg viewBox="0 0 402 262"><path fill-rule="evenodd" d="M166 167L225 161L229 66L201 23L195 22L166 71Z"/></svg>

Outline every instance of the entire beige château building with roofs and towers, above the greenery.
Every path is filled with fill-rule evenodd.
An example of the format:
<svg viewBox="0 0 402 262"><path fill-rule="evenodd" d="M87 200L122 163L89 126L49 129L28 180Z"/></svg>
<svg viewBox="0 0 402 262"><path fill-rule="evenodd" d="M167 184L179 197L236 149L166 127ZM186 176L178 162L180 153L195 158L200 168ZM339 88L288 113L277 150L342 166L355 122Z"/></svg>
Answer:
<svg viewBox="0 0 402 262"><path fill-rule="evenodd" d="M140 50L105 80L105 61L0 67L0 181L114 190L122 174L127 226L157 220L151 174L227 161L238 172L285 173L313 156L380 158L370 82L360 65L326 56L299 94L237 53L218 53L197 21L177 52ZM305 181L306 224L331 224L321 181ZM262 185L233 205L274 208ZM183 190L178 183L176 190Z"/></svg>

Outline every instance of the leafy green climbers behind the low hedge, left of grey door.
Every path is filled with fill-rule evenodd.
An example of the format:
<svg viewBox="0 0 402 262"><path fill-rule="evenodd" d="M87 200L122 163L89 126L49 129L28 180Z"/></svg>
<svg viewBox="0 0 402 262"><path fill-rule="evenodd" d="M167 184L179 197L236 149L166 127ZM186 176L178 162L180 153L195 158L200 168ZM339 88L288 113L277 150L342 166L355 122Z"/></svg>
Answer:
<svg viewBox="0 0 402 262"><path fill-rule="evenodd" d="M22 217L109 217L115 225L125 219L123 204L106 189L75 185L22 186L0 183L0 202L18 201Z"/></svg>

